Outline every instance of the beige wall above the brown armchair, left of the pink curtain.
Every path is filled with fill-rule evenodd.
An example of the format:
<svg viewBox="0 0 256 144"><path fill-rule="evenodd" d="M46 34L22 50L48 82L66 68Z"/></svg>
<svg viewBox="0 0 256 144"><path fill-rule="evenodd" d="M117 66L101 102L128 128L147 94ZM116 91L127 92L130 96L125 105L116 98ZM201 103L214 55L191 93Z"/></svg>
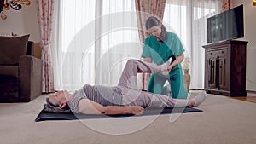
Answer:
<svg viewBox="0 0 256 144"><path fill-rule="evenodd" d="M22 9L16 11L13 9L5 10L6 20L0 18L0 34L9 35L14 32L18 36L30 34L29 40L36 43L35 55L40 57L39 44L41 41L38 12L36 0L31 0L29 6L22 5Z"/></svg>

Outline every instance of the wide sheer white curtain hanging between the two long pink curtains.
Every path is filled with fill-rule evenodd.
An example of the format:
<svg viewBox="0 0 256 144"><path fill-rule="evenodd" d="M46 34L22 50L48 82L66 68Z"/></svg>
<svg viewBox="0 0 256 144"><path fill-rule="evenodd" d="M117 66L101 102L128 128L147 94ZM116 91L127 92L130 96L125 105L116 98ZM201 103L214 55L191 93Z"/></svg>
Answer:
<svg viewBox="0 0 256 144"><path fill-rule="evenodd" d="M125 61L141 55L134 0L61 0L56 5L55 89L117 84Z"/></svg>

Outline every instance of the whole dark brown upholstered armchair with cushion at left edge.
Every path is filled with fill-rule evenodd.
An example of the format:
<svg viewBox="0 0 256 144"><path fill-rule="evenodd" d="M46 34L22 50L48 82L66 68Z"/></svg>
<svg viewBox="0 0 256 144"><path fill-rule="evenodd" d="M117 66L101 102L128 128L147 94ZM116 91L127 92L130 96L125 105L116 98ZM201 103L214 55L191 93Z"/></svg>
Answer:
<svg viewBox="0 0 256 144"><path fill-rule="evenodd" d="M28 37L0 37L0 102L28 102L42 94L43 63Z"/></svg>

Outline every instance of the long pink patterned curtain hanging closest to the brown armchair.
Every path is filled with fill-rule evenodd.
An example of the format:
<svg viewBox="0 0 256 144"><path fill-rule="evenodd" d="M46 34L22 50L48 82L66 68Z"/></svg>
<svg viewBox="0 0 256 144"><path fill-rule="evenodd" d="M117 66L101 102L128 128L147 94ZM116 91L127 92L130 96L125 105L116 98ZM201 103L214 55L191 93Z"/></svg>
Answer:
<svg viewBox="0 0 256 144"><path fill-rule="evenodd" d="M41 32L43 60L43 92L54 92L54 75L50 55L54 0L38 0L38 18Z"/></svg>

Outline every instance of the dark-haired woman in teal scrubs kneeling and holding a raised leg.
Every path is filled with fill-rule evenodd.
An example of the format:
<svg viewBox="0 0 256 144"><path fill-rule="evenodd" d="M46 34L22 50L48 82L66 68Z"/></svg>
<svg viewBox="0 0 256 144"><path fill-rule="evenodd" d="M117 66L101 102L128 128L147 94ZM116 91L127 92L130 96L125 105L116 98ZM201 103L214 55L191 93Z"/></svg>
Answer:
<svg viewBox="0 0 256 144"><path fill-rule="evenodd" d="M168 95L168 90L164 87L167 80L171 85L172 98L186 99L188 92L184 87L183 69L180 65L184 58L183 44L175 33L167 32L166 27L154 16L146 20L145 27L150 36L145 39L142 57L158 66L168 63L163 70L167 70L166 74L151 74L148 92Z"/></svg>

